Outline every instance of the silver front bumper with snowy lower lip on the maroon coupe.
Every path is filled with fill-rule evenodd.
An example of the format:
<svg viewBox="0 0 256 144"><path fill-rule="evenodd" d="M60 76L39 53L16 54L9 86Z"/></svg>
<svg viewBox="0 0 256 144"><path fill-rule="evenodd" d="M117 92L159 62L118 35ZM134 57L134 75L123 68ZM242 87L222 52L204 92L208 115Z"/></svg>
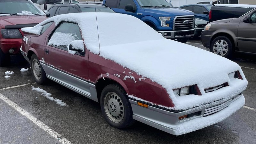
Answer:
<svg viewBox="0 0 256 144"><path fill-rule="evenodd" d="M205 107L193 108L193 110L190 109L175 113L153 106L144 108L139 106L135 100L129 99L129 101L132 105L133 119L173 135L182 135L216 124L228 116L231 116L245 104L244 96L241 94L217 105L211 105L210 103L205 105ZM211 115L204 116L206 113L211 113L212 108L216 108L218 106L221 106L219 111ZM201 111L201 115L178 121L180 116L198 111Z"/></svg>

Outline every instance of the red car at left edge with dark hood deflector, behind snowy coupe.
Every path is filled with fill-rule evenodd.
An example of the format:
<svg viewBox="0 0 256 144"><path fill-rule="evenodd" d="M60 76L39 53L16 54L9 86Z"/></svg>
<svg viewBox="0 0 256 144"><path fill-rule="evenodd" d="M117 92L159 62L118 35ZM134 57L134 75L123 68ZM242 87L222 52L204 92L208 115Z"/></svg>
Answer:
<svg viewBox="0 0 256 144"><path fill-rule="evenodd" d="M46 20L44 12L28 0L0 1L0 66L10 62L11 54L20 52L24 27Z"/></svg>

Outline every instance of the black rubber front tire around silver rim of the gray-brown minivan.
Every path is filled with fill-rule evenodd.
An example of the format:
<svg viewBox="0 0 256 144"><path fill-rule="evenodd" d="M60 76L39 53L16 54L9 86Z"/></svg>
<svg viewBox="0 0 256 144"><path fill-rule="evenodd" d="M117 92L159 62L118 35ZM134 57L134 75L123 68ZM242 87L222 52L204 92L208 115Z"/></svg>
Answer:
<svg viewBox="0 0 256 144"><path fill-rule="evenodd" d="M218 48L217 50L214 49L214 46L217 46L217 45L215 45L215 43L218 42L218 41L221 41L221 40L223 40L222 45L223 45L223 44L228 44L228 50L227 50L227 52L224 52L224 51L223 51L223 48L226 50L226 49L227 49L227 46L222 47L222 45L220 45L220 48ZM218 42L218 43L219 43L219 42ZM231 58L232 55L233 55L233 44L231 43L231 41L230 41L230 39L229 39L228 37L226 37L226 36L218 36L218 37L216 37L216 38L213 39L213 41L212 41L212 43L211 43L210 50L211 50L211 52L213 52L213 53L215 53L215 54L218 54L218 55L220 55L220 56L222 56L222 57ZM222 54L223 54L223 55L221 55L221 53L220 53L221 51L222 51Z"/></svg>

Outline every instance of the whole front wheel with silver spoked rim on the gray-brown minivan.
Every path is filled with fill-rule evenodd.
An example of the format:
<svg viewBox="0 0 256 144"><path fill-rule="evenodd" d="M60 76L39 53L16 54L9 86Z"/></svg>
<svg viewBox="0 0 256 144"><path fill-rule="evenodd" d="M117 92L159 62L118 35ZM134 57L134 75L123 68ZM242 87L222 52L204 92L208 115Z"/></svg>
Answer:
<svg viewBox="0 0 256 144"><path fill-rule="evenodd" d="M226 36L218 36L213 39L210 47L211 52L225 58L230 58L232 56L232 48L233 45Z"/></svg>

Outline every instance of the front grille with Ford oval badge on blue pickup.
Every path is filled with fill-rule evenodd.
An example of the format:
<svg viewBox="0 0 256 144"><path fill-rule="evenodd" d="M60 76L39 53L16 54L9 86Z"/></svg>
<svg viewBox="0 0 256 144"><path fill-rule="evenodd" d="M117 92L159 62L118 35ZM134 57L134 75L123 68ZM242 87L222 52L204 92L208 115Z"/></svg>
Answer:
<svg viewBox="0 0 256 144"><path fill-rule="evenodd" d="M185 21L188 20L188 23ZM189 30L193 29L195 25L195 17L194 16L179 16L174 20L174 30Z"/></svg>

